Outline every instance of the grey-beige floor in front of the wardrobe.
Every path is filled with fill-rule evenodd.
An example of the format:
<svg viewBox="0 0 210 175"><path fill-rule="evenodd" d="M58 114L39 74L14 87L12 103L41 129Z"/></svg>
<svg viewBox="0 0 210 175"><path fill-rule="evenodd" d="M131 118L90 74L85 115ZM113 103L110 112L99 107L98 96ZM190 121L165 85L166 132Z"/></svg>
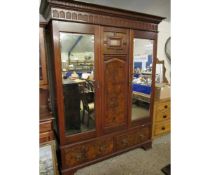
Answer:
<svg viewBox="0 0 210 175"><path fill-rule="evenodd" d="M75 175L163 175L170 163L170 134L153 141L152 149L137 148L78 170Z"/></svg>

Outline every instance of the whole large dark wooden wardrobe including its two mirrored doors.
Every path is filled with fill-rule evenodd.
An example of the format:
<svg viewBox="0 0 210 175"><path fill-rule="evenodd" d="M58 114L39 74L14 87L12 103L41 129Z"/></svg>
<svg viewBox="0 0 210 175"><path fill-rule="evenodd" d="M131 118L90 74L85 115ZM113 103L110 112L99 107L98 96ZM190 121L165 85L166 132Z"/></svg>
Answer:
<svg viewBox="0 0 210 175"><path fill-rule="evenodd" d="M43 0L40 13L48 20L48 79L61 173L150 148L157 26L164 18L54 0Z"/></svg>

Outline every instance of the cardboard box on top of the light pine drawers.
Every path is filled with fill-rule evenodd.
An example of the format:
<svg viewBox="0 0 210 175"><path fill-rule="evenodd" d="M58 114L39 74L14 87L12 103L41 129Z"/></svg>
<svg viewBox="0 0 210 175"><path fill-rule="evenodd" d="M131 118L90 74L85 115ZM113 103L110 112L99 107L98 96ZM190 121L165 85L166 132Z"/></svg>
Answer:
<svg viewBox="0 0 210 175"><path fill-rule="evenodd" d="M168 84L155 84L155 99L160 100L171 97L171 87Z"/></svg>

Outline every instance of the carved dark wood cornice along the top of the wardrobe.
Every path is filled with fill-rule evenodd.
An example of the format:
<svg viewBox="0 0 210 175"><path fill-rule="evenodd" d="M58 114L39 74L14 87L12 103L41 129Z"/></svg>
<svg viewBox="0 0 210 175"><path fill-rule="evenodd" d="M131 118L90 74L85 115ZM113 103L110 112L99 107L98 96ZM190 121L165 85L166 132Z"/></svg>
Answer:
<svg viewBox="0 0 210 175"><path fill-rule="evenodd" d="M47 19L157 31L164 18L76 1L42 0L40 13Z"/></svg>

